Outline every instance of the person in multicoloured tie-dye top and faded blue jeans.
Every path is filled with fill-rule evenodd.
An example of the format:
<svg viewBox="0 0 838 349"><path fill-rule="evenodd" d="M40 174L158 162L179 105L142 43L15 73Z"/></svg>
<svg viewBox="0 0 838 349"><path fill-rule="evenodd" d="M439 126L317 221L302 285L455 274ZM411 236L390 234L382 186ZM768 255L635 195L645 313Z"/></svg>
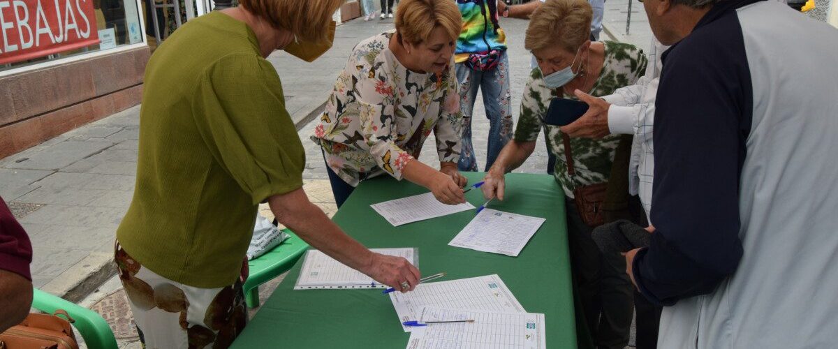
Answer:
<svg viewBox="0 0 838 349"><path fill-rule="evenodd" d="M500 150L512 138L512 105L506 34L498 23L497 0L457 0L463 15L463 30L454 56L459 82L460 110L463 112L463 150L460 171L477 171L477 158L471 139L474 100L483 90L486 117L489 118L489 146L485 169L489 169Z"/></svg>

